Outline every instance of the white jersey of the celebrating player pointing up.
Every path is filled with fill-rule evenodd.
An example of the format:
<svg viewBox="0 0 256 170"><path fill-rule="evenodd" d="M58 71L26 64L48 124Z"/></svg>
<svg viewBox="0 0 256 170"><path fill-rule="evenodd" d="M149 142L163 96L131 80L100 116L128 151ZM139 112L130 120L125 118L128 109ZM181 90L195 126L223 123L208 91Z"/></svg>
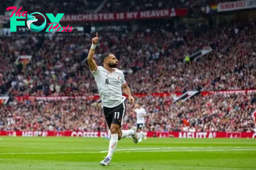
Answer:
<svg viewBox="0 0 256 170"><path fill-rule="evenodd" d="M123 72L117 68L113 68L113 72L109 72L102 66L98 66L91 71L96 81L102 105L107 108L113 108L125 101L122 95L122 86L126 85Z"/></svg>

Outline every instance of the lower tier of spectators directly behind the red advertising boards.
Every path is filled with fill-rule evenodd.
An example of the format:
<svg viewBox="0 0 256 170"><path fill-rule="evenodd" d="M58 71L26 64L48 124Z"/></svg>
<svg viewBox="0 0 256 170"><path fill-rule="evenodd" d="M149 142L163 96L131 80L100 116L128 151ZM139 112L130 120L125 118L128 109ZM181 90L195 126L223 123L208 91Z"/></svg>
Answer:
<svg viewBox="0 0 256 170"><path fill-rule="evenodd" d="M171 96L137 101L147 110L145 131L256 131L256 93L195 96L174 104ZM108 130L101 104L93 99L14 101L12 106L0 106L0 112L0 130ZM127 104L123 128L135 124L133 104Z"/></svg>

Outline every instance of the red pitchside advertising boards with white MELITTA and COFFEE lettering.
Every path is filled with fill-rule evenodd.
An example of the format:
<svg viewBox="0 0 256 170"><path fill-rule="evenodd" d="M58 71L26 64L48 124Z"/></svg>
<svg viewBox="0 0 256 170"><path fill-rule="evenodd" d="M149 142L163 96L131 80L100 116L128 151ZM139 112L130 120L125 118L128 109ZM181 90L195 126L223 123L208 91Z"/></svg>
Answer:
<svg viewBox="0 0 256 170"><path fill-rule="evenodd" d="M108 137L107 131L0 131L0 136L67 136L67 137ZM256 138L254 132L147 132L147 137L157 138Z"/></svg>

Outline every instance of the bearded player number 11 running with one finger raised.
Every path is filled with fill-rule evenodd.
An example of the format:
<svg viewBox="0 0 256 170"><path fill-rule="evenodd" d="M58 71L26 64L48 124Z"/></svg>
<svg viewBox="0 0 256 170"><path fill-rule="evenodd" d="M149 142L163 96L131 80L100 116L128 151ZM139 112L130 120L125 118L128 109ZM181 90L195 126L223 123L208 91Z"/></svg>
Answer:
<svg viewBox="0 0 256 170"><path fill-rule="evenodd" d="M117 69L118 60L112 53L102 55L102 63L104 67L97 66L93 60L95 48L98 43L98 33L92 39L88 53L87 61L90 71L95 79L99 96L102 100L103 112L111 131L111 139L109 141L108 155L100 162L102 166L108 166L111 162L113 153L116 149L118 140L127 136L132 136L134 143L138 142L137 127L132 127L130 130L121 130L122 122L125 116L126 106L125 97L122 96L122 89L127 94L130 103L134 103L134 98L131 95L131 90L125 82L124 74Z"/></svg>

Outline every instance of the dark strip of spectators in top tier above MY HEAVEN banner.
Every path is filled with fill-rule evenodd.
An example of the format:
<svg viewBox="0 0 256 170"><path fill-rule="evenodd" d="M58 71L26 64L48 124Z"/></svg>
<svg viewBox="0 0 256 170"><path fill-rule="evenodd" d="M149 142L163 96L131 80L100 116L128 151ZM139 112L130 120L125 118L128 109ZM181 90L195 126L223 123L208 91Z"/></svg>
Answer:
<svg viewBox="0 0 256 170"><path fill-rule="evenodd" d="M95 11L98 13L108 13L181 8L189 6L194 1L195 0L123 0L121 2L118 0L46 0L42 3L37 3L36 0L22 0L20 6L29 13L38 11L53 14L60 12L65 14L84 14L85 12L94 13ZM101 5L103 5L102 8Z"/></svg>

